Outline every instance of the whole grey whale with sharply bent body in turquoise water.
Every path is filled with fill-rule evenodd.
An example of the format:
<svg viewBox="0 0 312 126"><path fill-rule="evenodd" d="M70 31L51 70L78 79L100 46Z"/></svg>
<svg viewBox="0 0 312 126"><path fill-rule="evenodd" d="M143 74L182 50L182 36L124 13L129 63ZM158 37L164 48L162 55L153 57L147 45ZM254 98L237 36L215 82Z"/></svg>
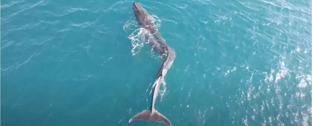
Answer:
<svg viewBox="0 0 312 126"><path fill-rule="evenodd" d="M171 67L176 57L176 53L165 43L157 28L154 26L154 23L152 22L148 12L137 2L133 2L132 8L140 28L144 28L144 30L147 30L149 32L149 35L146 35L147 37L149 37L149 44L151 44L152 48L161 55L161 57L163 58L163 63L161 64L155 77L150 108L134 115L129 120L129 123L134 120L147 120L165 123L169 126L172 126L169 119L167 119L163 114L155 110L154 106L155 100L158 96L159 87L164 80L164 76L166 75L167 70Z"/></svg>

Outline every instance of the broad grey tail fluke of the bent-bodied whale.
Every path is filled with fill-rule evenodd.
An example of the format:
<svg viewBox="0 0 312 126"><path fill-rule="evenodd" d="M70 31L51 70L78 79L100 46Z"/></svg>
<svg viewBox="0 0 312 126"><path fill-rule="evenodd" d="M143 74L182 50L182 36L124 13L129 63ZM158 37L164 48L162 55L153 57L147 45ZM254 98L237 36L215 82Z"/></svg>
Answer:
<svg viewBox="0 0 312 126"><path fill-rule="evenodd" d="M167 117L165 117L163 114L159 113L157 110L153 110L153 113L151 113L151 110L144 110L136 115L134 115L130 120L135 121L135 120L146 120L146 121L154 121L154 122L159 122L159 123L165 123L168 124L169 126L172 126L171 122Z"/></svg>

